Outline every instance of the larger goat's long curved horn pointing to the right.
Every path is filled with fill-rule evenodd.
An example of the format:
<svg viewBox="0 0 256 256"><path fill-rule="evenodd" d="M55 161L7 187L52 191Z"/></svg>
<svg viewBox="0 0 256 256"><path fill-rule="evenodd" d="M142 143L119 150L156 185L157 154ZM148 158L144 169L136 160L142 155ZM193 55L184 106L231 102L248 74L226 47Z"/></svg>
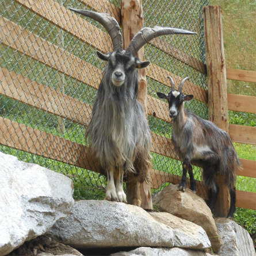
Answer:
<svg viewBox="0 0 256 256"><path fill-rule="evenodd" d="M143 28L133 37L131 43L125 50L131 52L133 56L137 54L140 48L150 40L158 36L171 35L171 34L196 34L189 30L178 29L178 28L163 28L162 26L154 26L154 28Z"/></svg>

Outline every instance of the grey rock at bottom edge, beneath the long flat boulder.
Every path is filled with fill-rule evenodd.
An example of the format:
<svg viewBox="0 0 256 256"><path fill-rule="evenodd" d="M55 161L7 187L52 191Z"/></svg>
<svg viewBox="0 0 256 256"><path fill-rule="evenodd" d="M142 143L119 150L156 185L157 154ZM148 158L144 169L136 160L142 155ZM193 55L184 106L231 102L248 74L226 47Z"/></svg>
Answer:
<svg viewBox="0 0 256 256"><path fill-rule="evenodd" d="M209 253L198 250L189 250L181 248L150 248L139 247L132 251L120 251L120 253L114 253L110 256L211 256ZM217 255L216 255L217 256Z"/></svg>

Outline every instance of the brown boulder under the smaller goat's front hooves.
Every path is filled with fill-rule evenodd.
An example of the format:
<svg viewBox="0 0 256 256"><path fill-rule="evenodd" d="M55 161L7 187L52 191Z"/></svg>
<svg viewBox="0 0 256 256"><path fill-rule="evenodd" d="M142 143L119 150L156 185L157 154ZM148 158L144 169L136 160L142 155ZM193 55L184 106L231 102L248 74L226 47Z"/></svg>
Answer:
<svg viewBox="0 0 256 256"><path fill-rule="evenodd" d="M205 201L194 194L192 190L186 189L185 192L182 192L178 191L177 187L178 185L166 186L154 196L153 204L160 211L169 212L204 228L211 241L212 250L219 251L221 241L211 210Z"/></svg>

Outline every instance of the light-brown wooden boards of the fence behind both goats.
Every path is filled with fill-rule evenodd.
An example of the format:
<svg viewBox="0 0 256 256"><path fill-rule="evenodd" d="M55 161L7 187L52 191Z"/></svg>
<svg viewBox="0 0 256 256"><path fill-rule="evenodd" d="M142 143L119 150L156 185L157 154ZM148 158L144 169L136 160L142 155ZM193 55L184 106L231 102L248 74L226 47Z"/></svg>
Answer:
<svg viewBox="0 0 256 256"><path fill-rule="evenodd" d="M45 20L58 26L59 29L64 30L86 44L90 44L93 48L104 53L111 51L112 45L110 44L109 36L106 33L100 31L96 26L89 24L77 14L71 13L70 10L59 5L58 2L55 2L54 0L32 2L29 0L16 0L16 2L24 6L30 12L36 13L37 16L43 17ZM105 9L106 12L109 12L109 14L117 19L117 21L121 22L121 10L112 3L104 2L101 4L101 1L86 0L81 0L81 2L91 6L95 11L100 10L103 12L103 9ZM125 12L124 2L122 2L121 7L121 9L123 8L123 13ZM47 7L47 12L45 12L45 6ZM142 6L140 6L140 8L142 8ZM209 8L209 10L212 12L211 8ZM131 14L131 12L135 12L135 8L129 9L129 14ZM209 17L205 16L205 19L208 18ZM0 22L2 28L0 37L3 45L18 51L23 55L29 56L29 58L35 59L37 62L43 63L54 70L58 70L62 74L77 79L77 81L86 83L95 89L98 88L99 81L102 77L102 70L98 67L70 54L70 52L35 35L28 29L23 28L5 17L1 17ZM123 30L125 30L125 26L126 24L123 21ZM136 30L138 28L133 29ZM86 32L87 30L94 33L88 35ZM99 37L102 40L99 40ZM102 41L105 43L102 44ZM125 41L125 44L127 43L128 42ZM208 41L208 43L210 43L210 41ZM158 48L159 51L165 52L166 54L181 60L202 74L209 76L211 73L211 70L209 69L211 67L207 67L207 65L192 56L188 56L185 52L182 52L181 49L174 49L174 47L167 45L162 39L154 40L152 41L152 44ZM45 51L45 49L47 50ZM177 54L177 51L179 54ZM186 58L181 59L180 56L186 56ZM143 59L143 52L141 59ZM64 67L64 62L68 63L68 68ZM144 75L165 86L169 86L166 77L167 75L170 75L170 72L155 64L151 65L154 66L154 71L151 72L146 69L144 70ZM87 72L89 70L92 70L93 72ZM256 72L254 71L234 70L224 66L223 72L226 73L227 79L256 82ZM175 74L171 75L173 76L174 81L179 81L181 79ZM226 78L224 77L224 79ZM81 125L87 125L89 123L92 106L72 98L62 91L51 89L47 85L39 84L36 81L31 81L29 78L26 78L21 74L16 74L16 72L7 70L3 67L0 69L0 81L0 94L2 95ZM144 79L143 82L144 86L145 83L146 79ZM145 88L142 89L143 85L140 85L140 90L144 90L144 93L140 94L140 97L142 97L140 100L146 104L145 108L147 109L147 114L169 122L167 104L151 95L145 94ZM198 101L208 105L212 104L212 102L208 101L208 91L202 89L202 87L194 85L193 83L188 83L186 91L194 91L194 97ZM256 113L256 97L226 94L224 95L224 98L228 99L227 105L230 110ZM211 98L211 101L216 100L219 99ZM156 106L155 109L150 108L152 105ZM217 118L219 117L217 117L216 114L215 120L213 121L216 121ZM0 117L0 131L2 133L0 136L0 144L4 146L16 148L17 150L30 152L32 154L44 156L46 158L96 172L99 171L97 162L95 162L93 156L89 154L88 148L82 144L71 142L63 137L39 131L39 129L28 127L17 121L4 119L3 117ZM244 127L230 124L228 125L228 132L233 142L256 144L256 127ZM152 133L151 151L156 154L177 159L177 156L173 153L173 144L171 140L156 133ZM256 178L256 161L241 159L241 162L244 170L240 171L238 175ZM181 177L178 175L169 175L169 173L154 170L152 173L151 188L157 189L165 182L177 184L180 179ZM200 181L197 182L201 183ZM236 195L236 205L238 207L256 209L256 193L237 191ZM146 194L146 197L148 197L148 194Z"/></svg>

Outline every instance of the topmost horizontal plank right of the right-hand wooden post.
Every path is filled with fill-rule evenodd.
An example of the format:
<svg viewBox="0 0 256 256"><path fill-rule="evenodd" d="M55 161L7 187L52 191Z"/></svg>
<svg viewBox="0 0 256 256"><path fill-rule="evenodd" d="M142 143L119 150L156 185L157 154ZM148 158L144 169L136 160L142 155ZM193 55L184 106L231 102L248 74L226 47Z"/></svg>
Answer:
<svg viewBox="0 0 256 256"><path fill-rule="evenodd" d="M227 79L256 83L256 71L226 68Z"/></svg>

